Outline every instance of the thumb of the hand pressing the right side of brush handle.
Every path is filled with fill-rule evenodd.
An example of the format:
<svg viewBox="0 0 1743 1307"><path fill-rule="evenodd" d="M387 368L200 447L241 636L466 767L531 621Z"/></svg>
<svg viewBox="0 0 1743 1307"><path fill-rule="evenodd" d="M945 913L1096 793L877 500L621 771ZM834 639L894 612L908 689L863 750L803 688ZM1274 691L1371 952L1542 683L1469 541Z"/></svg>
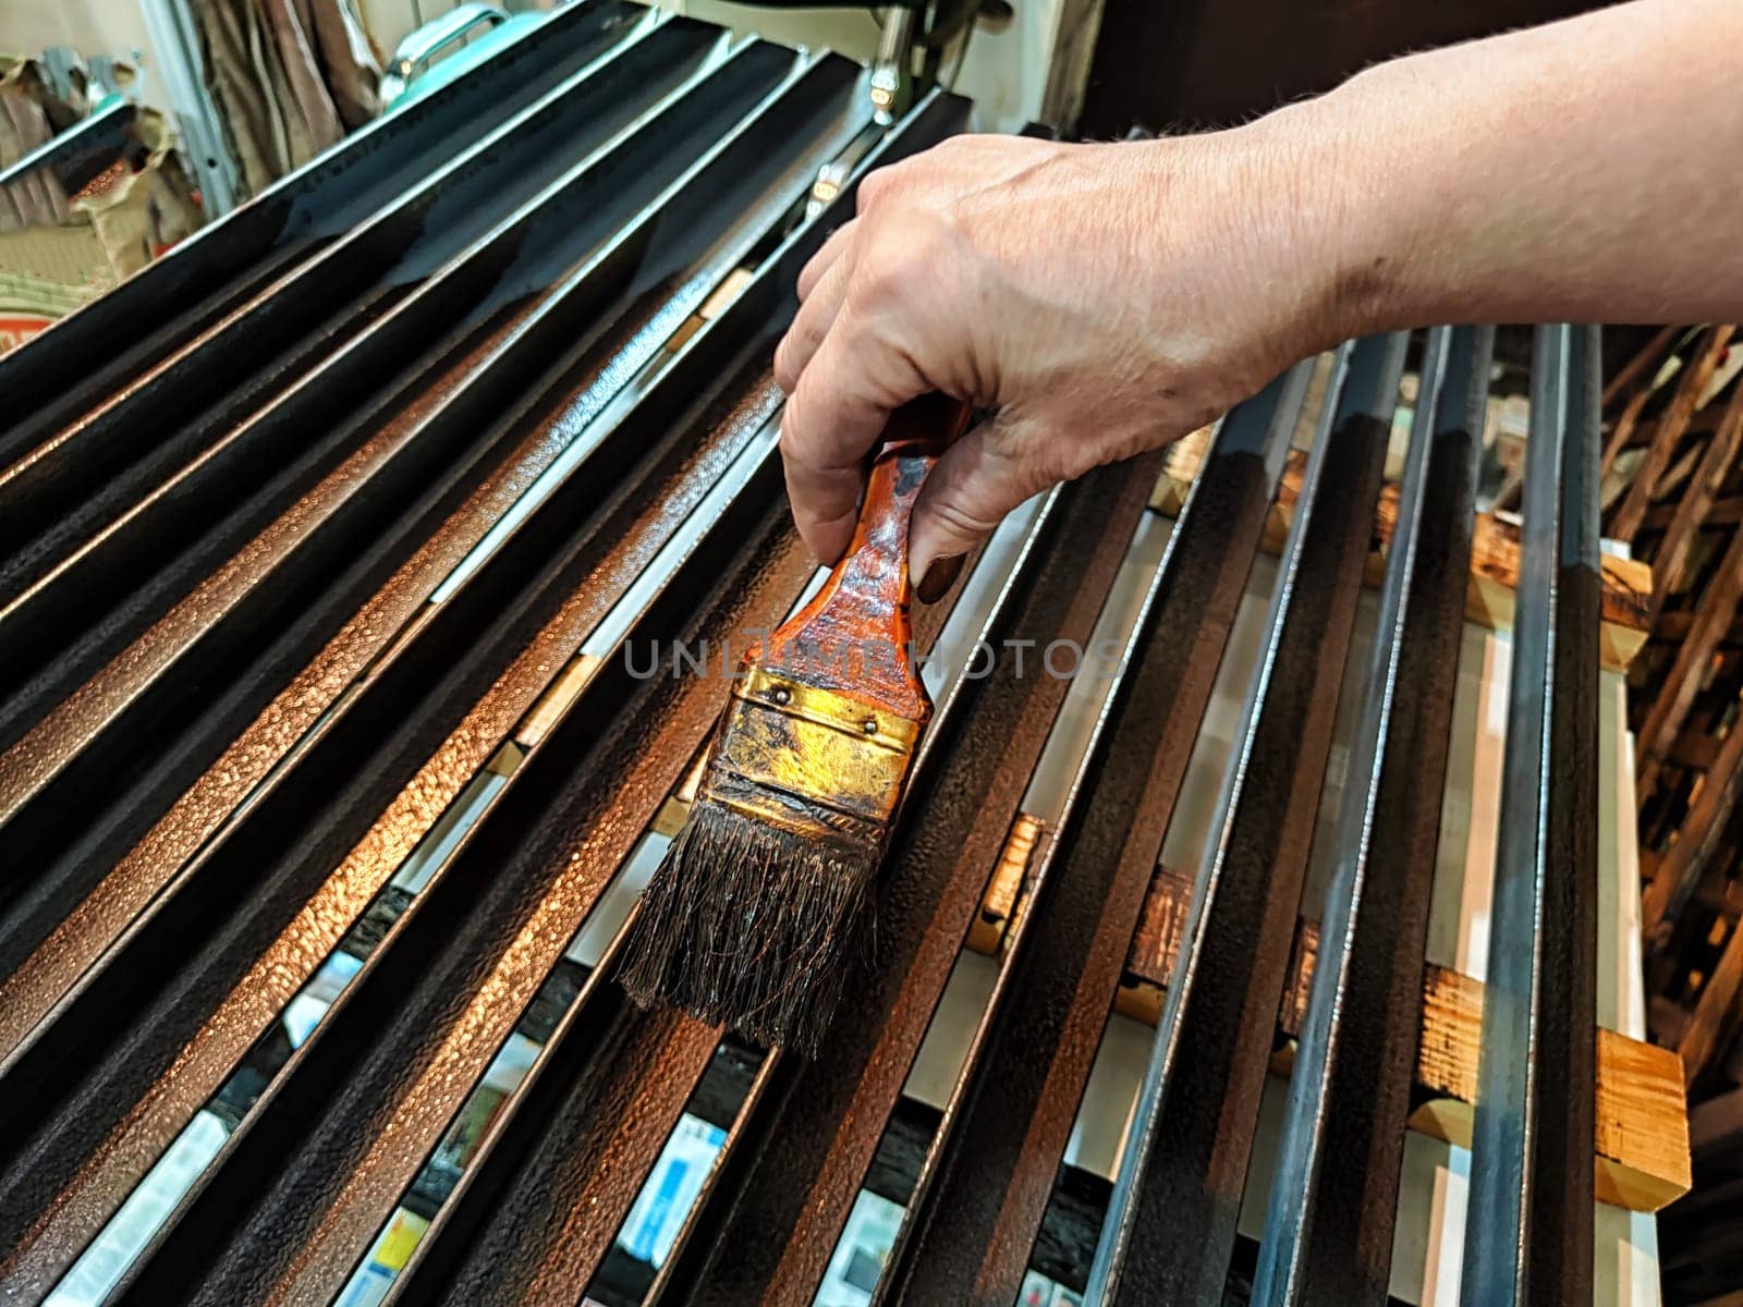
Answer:
<svg viewBox="0 0 1743 1307"><path fill-rule="evenodd" d="M1044 477L1025 472L1009 422L994 416L939 457L926 476L908 525L908 575L922 601L934 603L1011 509L1042 490ZM934 566L939 575L929 575Z"/></svg>

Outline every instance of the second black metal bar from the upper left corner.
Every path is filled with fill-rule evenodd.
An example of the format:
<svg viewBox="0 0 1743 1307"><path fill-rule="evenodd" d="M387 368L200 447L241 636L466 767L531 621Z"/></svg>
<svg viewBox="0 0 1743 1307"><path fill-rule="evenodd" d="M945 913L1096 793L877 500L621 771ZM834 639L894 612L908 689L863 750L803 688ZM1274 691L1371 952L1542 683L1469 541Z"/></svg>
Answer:
<svg viewBox="0 0 1743 1307"><path fill-rule="evenodd" d="M622 136L648 131L648 108L671 91L688 82L704 98L720 94L725 84L699 77L720 49L716 30L688 21L619 42L61 429L38 422L35 448L0 469L0 605L573 174L575 160L598 155L603 162ZM765 49L763 58L772 61L776 52ZM727 106L718 112L730 122ZM655 178L657 169L640 183L643 195ZM600 228L598 218L593 227ZM568 247L579 247L580 235ZM432 322L465 319L464 301L427 312L424 333L408 349L437 335ZM397 371L403 356L380 357L378 375Z"/></svg>

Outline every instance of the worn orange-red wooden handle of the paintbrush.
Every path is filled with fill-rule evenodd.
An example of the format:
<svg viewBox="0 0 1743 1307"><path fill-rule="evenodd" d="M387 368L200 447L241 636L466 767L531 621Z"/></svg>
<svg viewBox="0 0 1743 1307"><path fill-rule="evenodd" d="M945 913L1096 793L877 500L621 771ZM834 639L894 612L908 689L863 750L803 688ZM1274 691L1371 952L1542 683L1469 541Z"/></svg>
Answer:
<svg viewBox="0 0 1743 1307"><path fill-rule="evenodd" d="M797 645L798 680L851 694L924 721L931 701L906 659L913 594L908 577L908 518L920 483L950 441L967 429L969 410L933 394L903 404L884 429L872 462L859 525L842 561L816 598L781 626L769 645L776 659Z"/></svg>

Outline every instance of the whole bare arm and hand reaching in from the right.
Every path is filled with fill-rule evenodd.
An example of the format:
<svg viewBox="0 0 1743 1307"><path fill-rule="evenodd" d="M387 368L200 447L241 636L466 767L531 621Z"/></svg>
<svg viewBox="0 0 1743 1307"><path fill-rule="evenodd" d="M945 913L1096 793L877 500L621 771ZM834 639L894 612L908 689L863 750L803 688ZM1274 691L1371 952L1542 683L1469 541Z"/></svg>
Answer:
<svg viewBox="0 0 1743 1307"><path fill-rule="evenodd" d="M1633 0L1234 131L962 138L884 169L805 268L776 361L798 526L842 551L865 453L926 390L992 416L922 491L922 598L1028 495L1346 336L1743 317L1740 68L1738 0Z"/></svg>

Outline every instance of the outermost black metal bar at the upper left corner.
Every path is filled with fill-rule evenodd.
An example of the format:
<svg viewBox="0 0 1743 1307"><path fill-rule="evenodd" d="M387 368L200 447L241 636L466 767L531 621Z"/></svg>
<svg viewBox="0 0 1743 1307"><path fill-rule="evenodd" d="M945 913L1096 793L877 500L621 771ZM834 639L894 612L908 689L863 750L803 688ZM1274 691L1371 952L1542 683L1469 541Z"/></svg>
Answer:
<svg viewBox="0 0 1743 1307"><path fill-rule="evenodd" d="M629 33L643 10L577 0L486 63L376 119L0 359L0 462L180 349L300 258Z"/></svg>

